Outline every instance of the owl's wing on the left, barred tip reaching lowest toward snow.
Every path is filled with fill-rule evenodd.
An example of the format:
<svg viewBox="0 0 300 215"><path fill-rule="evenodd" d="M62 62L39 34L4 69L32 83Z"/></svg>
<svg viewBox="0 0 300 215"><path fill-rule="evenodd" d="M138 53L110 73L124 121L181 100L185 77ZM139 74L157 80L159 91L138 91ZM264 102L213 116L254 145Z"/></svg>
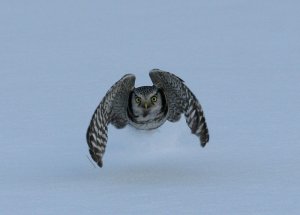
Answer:
<svg viewBox="0 0 300 215"><path fill-rule="evenodd" d="M91 157L99 167L103 166L102 157L107 143L108 124L123 128L128 123L128 98L134 83L134 75L123 76L109 89L92 116L86 139Z"/></svg>

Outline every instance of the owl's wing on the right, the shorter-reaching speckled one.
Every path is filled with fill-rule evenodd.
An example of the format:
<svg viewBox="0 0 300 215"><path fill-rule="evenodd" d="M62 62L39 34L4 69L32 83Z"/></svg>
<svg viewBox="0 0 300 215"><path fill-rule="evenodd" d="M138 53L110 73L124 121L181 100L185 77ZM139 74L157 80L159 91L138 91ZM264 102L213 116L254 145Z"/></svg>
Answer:
<svg viewBox="0 0 300 215"><path fill-rule="evenodd" d="M202 107L195 95L176 75L159 69L149 73L153 84L163 89L169 108L168 120L176 122L184 113L192 133L200 138L204 147L209 141L209 134Z"/></svg>

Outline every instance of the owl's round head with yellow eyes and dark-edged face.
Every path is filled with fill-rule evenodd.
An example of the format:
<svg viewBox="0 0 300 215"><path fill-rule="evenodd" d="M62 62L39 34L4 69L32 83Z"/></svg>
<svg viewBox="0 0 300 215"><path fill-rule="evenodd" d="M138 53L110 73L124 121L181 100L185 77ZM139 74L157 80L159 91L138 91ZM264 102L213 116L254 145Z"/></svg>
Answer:
<svg viewBox="0 0 300 215"><path fill-rule="evenodd" d="M155 86L142 86L133 90L129 105L133 116L145 121L157 117L163 111L166 102L160 89Z"/></svg>

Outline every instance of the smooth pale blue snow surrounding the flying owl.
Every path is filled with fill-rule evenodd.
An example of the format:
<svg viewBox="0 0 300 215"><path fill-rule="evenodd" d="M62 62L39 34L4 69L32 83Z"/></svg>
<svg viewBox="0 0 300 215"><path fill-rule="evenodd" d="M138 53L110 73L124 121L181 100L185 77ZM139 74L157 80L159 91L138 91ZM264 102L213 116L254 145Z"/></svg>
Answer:
<svg viewBox="0 0 300 215"><path fill-rule="evenodd" d="M299 214L300 3L0 2L0 214ZM177 74L211 140L184 119L85 133L110 86Z"/></svg>

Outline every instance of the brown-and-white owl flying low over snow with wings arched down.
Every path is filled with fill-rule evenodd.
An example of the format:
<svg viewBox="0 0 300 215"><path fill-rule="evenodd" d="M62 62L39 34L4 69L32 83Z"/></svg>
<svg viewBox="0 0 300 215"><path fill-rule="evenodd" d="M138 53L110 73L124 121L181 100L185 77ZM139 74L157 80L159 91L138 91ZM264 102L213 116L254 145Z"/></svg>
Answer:
<svg viewBox="0 0 300 215"><path fill-rule="evenodd" d="M150 130L167 120L177 122L184 114L186 123L204 147L209 133L202 107L196 96L176 75L153 69L149 73L153 86L135 88L135 76L124 75L106 93L96 108L86 138L92 159L103 166L108 140L108 125Z"/></svg>

